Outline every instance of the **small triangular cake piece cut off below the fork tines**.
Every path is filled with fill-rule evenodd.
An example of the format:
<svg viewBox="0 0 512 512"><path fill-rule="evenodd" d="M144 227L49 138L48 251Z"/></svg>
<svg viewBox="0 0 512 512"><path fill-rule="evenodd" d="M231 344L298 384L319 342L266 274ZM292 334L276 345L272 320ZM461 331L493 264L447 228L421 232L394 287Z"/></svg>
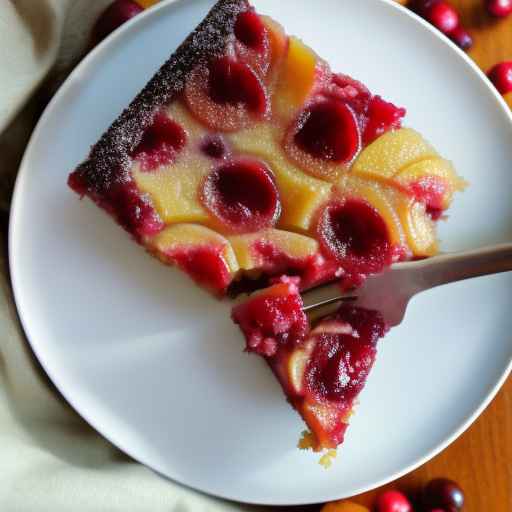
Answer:
<svg viewBox="0 0 512 512"><path fill-rule="evenodd" d="M282 277L234 307L232 317L247 350L266 359L306 422L310 431L299 446L332 455L388 327L376 311L342 305L311 329L302 307L298 278Z"/></svg>

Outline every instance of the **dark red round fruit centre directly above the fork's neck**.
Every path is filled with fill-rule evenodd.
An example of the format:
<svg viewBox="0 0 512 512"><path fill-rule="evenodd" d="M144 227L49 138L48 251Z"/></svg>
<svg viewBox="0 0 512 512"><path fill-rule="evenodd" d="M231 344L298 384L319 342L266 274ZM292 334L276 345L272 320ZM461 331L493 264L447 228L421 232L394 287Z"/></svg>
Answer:
<svg viewBox="0 0 512 512"><path fill-rule="evenodd" d="M317 225L322 248L350 275L373 274L391 264L393 251L386 223L360 199L328 204Z"/></svg>

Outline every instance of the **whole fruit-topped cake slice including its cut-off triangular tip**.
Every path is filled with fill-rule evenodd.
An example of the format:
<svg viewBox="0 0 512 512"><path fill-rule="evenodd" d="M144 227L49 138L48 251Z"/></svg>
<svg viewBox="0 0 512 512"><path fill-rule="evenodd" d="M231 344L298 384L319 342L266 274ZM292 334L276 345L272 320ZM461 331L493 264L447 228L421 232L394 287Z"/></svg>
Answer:
<svg viewBox="0 0 512 512"><path fill-rule="evenodd" d="M386 328L350 308L311 328L299 290L435 254L464 187L404 116L246 0L220 0L69 177L212 293L274 283L233 316L314 449L342 441Z"/></svg>

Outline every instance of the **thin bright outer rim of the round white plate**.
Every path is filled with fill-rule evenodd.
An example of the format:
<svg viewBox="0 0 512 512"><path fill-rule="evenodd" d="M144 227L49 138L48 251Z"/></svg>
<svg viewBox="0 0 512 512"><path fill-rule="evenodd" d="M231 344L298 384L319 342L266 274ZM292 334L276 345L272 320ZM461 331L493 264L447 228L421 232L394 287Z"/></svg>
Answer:
<svg viewBox="0 0 512 512"><path fill-rule="evenodd" d="M155 469L152 464L150 464L148 461L144 460L145 457L139 457L134 456L131 453L131 450L129 447L124 446L124 443L120 443L118 441L115 441L111 438L109 435L105 435L102 432L102 429L98 428L96 426L96 422L93 418L94 414L89 414L88 411L84 409L84 407L78 408L75 405L74 399L72 398L72 393L69 393L66 391L66 386L63 385L60 382L60 379L58 376L53 375L49 369L49 364L46 360L46 357L44 355L44 351L39 350L38 343L35 341L36 335L32 337L31 328L30 328L30 322L28 320L28 314L25 316L24 311L22 310L20 303L21 303L21 295L22 292L21 287L19 285L19 277L17 276L17 267L14 263L15 261L15 247L16 247L16 233L17 233L17 224L18 224L18 218L20 216L20 210L22 209L21 206L21 197L23 189L22 184L23 181L26 179L26 176L28 174L29 169L29 162L30 162L30 155L32 153L32 148L35 146L37 139L39 138L39 133L43 129L44 125L46 124L47 118L50 117L54 107L56 104L60 102L61 96L63 96L68 88L70 88L75 81L77 80L77 77L82 73L83 69L86 69L88 66L94 66L94 61L97 58L100 58L101 55L108 53L110 48L114 46L115 42L123 37L124 33L132 30L132 28L140 23L145 22L151 22L151 18L156 18L158 16L158 13L161 10L164 10L166 8L169 8L171 5L178 4L180 2L185 2L186 0L163 0L159 4L153 6L152 8L146 9L144 12L141 12L139 15L135 16L131 20L124 23L121 27L119 27L117 30L115 30L112 34L110 34L108 37L106 37L101 43L99 43L94 49L92 49L80 62L79 64L71 71L71 73L67 76L66 80L60 85L57 92L54 94L48 105L45 107L43 113L41 114L41 117L39 118L38 122L35 125L34 130L32 131L32 134L30 136L29 142L25 148L23 157L21 159L18 173L15 179L12 199L11 199L11 208L10 208L10 218L9 218L9 228L8 228L8 264L10 269L10 279L11 279L11 286L13 291L13 298L14 303L16 306L16 312L21 324L21 327L23 329L23 333L25 335L26 340L28 341L28 344L30 346L30 349L32 350L33 354L41 364L41 367L43 371L46 373L46 375L50 378L52 383L55 385L57 391L61 394L61 396L66 400L66 402L69 404L69 406L87 423L89 424L101 437L106 439L109 443L111 443L113 446L115 446L120 451L126 453L128 456L136 460L137 462L141 463L145 467L149 468L151 471L159 475L160 477L164 478L165 480L169 480L171 482L177 483L179 485L183 485L184 487L198 491L203 495L212 496L216 498L221 498L225 500L229 500L235 503L245 503L249 505L263 505L263 506L300 506L300 505L316 505L320 503L324 503L327 501L334 501L334 500L340 500L340 499L346 499L351 496L356 496L368 491L371 491L373 489L376 489L378 487L384 486L394 480L397 480L401 478L402 476L414 471L418 467L422 466L429 460L433 459L435 456L437 456L439 453L441 453L443 450L445 450L449 445L451 445L458 437L460 437L466 430L468 430L469 427L477 420L477 418L484 412L484 410L489 406L489 404L492 402L492 400L496 397L497 393L503 386L505 380L512 372L512 352L511 357L508 361L508 365L506 366L505 370L501 374L500 378L497 380L497 382L490 386L486 398L481 402L478 408L475 409L475 411L471 414L469 414L463 421L461 421L459 427L455 428L450 435L446 436L446 438L438 443L435 447L433 447L431 450L429 450L427 453L425 453L422 457L418 457L414 462L406 466L400 471L396 471L384 478L381 478L380 480L377 480L375 482L372 482L368 485L362 486L360 488L354 489L350 494L337 494L333 493L325 497L322 501L317 500L270 500L265 501L264 499L261 500L246 500L241 499L240 496L233 495L232 493L223 493L223 492L217 492L217 491L211 491L211 490L205 490L204 488L200 488L198 486L194 486L193 484L184 482L179 475L169 477L157 469ZM190 0L189 0L190 1ZM435 27L433 27L430 23L407 9L406 7L402 6L401 4L395 2L394 0L368 0L375 3L381 3L388 5L391 7L391 9L396 10L397 12L402 12L402 14L405 14L408 16L413 23L418 23L422 25L424 28L426 28L428 31L430 31L432 34L434 34L438 39L440 39L447 47L448 51L455 52L459 58L461 58L465 64L469 67L469 69L473 72L473 76L478 79L483 85L491 92L492 96L497 102L498 108L502 110L502 112L505 114L505 117L508 119L510 124L512 125L512 111L508 108L508 105L506 104L503 97L498 93L498 91L495 89L495 87L492 85L492 83L489 81L485 73L478 67L475 61L469 57L468 54L466 54L464 51L462 51L460 48L458 48L447 36L442 34L439 30L437 30Z"/></svg>

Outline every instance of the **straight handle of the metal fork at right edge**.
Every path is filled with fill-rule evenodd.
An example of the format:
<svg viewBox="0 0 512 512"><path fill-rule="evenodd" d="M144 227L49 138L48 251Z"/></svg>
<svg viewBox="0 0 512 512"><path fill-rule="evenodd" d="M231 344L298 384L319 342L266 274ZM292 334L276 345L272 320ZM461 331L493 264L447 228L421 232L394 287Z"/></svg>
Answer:
<svg viewBox="0 0 512 512"><path fill-rule="evenodd" d="M512 243L442 254L414 262L412 265L417 271L415 273L419 280L418 286L427 290L471 277L512 271Z"/></svg>

